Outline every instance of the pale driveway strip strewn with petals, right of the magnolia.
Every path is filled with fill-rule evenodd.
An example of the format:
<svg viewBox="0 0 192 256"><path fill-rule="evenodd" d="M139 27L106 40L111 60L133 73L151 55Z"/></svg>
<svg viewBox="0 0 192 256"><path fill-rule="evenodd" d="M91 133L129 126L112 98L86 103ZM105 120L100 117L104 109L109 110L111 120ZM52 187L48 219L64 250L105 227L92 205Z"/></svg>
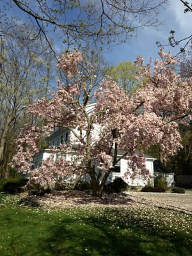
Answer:
<svg viewBox="0 0 192 256"><path fill-rule="evenodd" d="M158 207L175 209L177 211L192 214L192 190L186 190L185 194L175 193L145 193L127 192L132 200L143 204L157 205Z"/></svg>

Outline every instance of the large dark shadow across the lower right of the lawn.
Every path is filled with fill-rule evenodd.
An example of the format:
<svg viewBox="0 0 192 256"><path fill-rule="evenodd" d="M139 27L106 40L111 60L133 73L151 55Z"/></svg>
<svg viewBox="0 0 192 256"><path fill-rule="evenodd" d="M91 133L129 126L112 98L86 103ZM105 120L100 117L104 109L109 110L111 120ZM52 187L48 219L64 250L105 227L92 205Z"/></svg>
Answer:
<svg viewBox="0 0 192 256"><path fill-rule="evenodd" d="M113 210L113 216L118 213ZM110 220L110 216L111 212L109 218L107 215L67 218L53 225L50 236L40 243L44 255L192 255L191 246L186 244L190 237L186 234L153 228L150 224L143 227L134 216L129 223Z"/></svg>

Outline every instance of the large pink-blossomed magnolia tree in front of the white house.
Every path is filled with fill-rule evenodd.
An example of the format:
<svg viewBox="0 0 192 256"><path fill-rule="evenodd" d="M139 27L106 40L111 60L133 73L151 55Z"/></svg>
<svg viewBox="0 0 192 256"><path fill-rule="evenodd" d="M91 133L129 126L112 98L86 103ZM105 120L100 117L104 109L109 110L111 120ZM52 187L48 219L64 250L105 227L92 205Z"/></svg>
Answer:
<svg viewBox="0 0 192 256"><path fill-rule="evenodd" d="M86 174L92 182L93 195L99 196L113 166L120 161L118 151L127 159L132 178L148 175L143 152L151 145L160 143L164 159L174 154L182 147L179 122L186 116L191 118L192 79L183 82L173 69L179 60L163 50L159 54L162 60L156 60L154 68L152 61L148 65L143 64L141 57L135 61L136 67L140 67L136 79L141 84L131 95L109 77L94 86L93 65L86 65L82 71L80 52L63 54L58 69L67 75L67 83L58 79L58 90L51 99L29 106L29 115L38 115L44 126L29 125L20 132L13 158L18 172L29 173L29 183L40 186L73 174ZM86 107L92 102L95 105L90 113ZM75 138L71 143L51 148L57 154L71 154L70 161L64 157L55 161L49 158L31 170L33 156L39 152L38 141L49 136L55 126L70 130Z"/></svg>

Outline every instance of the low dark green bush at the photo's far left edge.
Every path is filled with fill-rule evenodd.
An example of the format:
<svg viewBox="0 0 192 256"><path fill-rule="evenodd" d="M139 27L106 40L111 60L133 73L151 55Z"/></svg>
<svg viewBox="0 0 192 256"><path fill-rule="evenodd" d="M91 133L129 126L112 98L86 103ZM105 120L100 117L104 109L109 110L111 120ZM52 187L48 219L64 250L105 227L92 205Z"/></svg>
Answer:
<svg viewBox="0 0 192 256"><path fill-rule="evenodd" d="M23 190L24 186L27 184L28 179L24 178L10 178L1 180L0 189L6 193L19 193Z"/></svg>

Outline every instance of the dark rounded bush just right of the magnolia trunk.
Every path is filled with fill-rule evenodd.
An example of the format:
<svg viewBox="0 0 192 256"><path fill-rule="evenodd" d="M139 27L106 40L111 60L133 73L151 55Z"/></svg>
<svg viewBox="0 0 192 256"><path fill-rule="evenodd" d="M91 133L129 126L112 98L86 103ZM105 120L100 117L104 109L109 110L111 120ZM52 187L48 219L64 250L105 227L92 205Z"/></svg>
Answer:
<svg viewBox="0 0 192 256"><path fill-rule="evenodd" d="M127 189L127 183L120 177L113 180L113 182L104 186L104 191L106 193L119 193L121 191L125 191Z"/></svg>

